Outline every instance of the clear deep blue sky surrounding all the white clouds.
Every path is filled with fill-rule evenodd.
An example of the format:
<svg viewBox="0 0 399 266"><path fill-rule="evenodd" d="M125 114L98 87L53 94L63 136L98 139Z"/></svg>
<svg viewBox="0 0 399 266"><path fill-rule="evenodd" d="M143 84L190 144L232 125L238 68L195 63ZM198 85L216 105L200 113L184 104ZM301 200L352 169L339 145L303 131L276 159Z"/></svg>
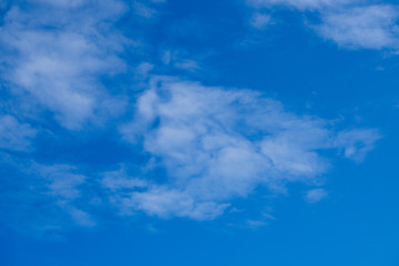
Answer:
<svg viewBox="0 0 399 266"><path fill-rule="evenodd" d="M23 7L23 1L10 1L12 6ZM392 49L339 45L304 23L317 23L317 13L284 6L270 8L276 22L263 30L249 25L253 11L245 1L168 0L160 9L151 21L127 12L111 28L145 40L144 47L121 52L125 72L99 78L111 95L127 95L124 113L101 126L93 123L71 131L52 119L51 111L44 112L24 120L41 132L33 140L34 151L2 149L12 160L4 155L0 162L0 265L399 265L399 61ZM243 40L249 41L244 45ZM165 49L181 51L201 68L187 71L163 64L160 54ZM0 51L3 54L7 48ZM328 196L315 204L304 201L306 182L287 182L286 194L270 195L259 186L229 201L236 213L228 211L211 221L143 212L126 217L112 205L88 205L92 195L108 197L90 178L75 206L89 209L96 217L95 226L60 223L61 228L35 232L31 221L47 224L47 218L64 216L48 209L47 202L53 198L20 193L29 191L29 181L35 177L16 165L70 164L98 176L123 162L146 163L150 155L126 145L117 131L134 116L132 105L146 90L147 78L140 81L133 73L141 62L153 65L152 74L258 91L280 101L290 113L340 120L337 130L377 129L381 140L362 162L337 157L337 151L319 151L330 162L320 176ZM16 110L7 106L14 98L10 83L0 78L2 114ZM164 182L166 173L157 171L149 178ZM40 186L40 181L33 183ZM262 226L245 224L265 208L273 218Z"/></svg>

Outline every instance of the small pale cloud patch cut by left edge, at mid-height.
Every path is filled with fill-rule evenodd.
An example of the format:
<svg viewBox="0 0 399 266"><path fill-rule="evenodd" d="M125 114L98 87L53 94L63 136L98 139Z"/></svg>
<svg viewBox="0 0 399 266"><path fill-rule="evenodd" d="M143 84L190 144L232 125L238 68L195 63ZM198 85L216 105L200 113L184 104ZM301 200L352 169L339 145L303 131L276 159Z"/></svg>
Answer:
<svg viewBox="0 0 399 266"><path fill-rule="evenodd" d="M37 130L11 115L0 116L0 149L28 151Z"/></svg>

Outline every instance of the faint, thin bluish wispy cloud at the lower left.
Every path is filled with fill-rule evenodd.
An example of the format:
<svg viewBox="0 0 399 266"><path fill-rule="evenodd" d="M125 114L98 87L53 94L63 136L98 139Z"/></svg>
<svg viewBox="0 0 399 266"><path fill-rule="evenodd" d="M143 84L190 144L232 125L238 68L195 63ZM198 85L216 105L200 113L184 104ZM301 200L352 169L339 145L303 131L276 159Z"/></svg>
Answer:
<svg viewBox="0 0 399 266"><path fill-rule="evenodd" d="M3 155L3 154L0 154ZM14 172L3 172L1 207L6 212L1 222L17 231L57 233L69 226L94 226L90 205L82 204L90 194L84 187L88 176L68 164L40 164L17 156L1 156L3 166L13 166ZM8 184L13 184L9 186ZM32 232L33 231L33 232Z"/></svg>

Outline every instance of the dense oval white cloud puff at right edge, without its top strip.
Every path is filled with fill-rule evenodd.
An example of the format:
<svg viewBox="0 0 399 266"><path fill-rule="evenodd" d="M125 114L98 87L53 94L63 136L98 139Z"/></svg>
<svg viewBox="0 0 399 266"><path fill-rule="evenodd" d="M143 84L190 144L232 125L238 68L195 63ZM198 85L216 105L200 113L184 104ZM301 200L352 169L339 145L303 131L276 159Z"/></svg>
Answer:
<svg viewBox="0 0 399 266"><path fill-rule="evenodd" d="M399 48L398 8L389 4L355 7L325 12L317 32L347 48Z"/></svg>

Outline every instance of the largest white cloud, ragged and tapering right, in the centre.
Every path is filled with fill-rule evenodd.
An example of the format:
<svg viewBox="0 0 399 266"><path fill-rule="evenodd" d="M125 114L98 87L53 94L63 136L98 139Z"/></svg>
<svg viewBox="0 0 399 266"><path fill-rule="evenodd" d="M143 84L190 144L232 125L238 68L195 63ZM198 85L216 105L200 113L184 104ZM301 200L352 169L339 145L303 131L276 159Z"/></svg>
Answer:
<svg viewBox="0 0 399 266"><path fill-rule="evenodd" d="M254 91L207 88L156 78L137 100L135 119L121 129L142 144L167 181L149 180L119 203L161 217L212 219L235 197L262 185L314 182L328 167L320 150L361 160L380 137L372 130L334 130L331 122L286 112Z"/></svg>

